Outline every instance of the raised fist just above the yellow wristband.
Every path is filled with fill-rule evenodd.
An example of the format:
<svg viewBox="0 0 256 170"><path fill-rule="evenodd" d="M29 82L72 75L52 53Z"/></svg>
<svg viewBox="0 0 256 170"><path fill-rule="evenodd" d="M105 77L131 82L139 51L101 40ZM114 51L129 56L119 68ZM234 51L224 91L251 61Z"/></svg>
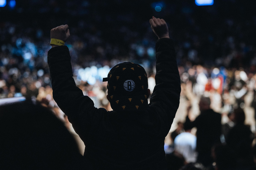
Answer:
<svg viewBox="0 0 256 170"><path fill-rule="evenodd" d="M51 39L58 39L66 42L70 37L68 25L61 25L51 29Z"/></svg>

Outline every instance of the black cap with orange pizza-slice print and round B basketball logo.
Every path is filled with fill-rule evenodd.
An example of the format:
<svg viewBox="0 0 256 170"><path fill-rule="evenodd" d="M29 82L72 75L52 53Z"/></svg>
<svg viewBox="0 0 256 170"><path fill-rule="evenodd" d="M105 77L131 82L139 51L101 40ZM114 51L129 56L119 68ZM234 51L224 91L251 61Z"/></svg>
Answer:
<svg viewBox="0 0 256 170"><path fill-rule="evenodd" d="M136 111L147 107L148 78L141 65L119 63L103 81L108 81L107 98L114 111Z"/></svg>

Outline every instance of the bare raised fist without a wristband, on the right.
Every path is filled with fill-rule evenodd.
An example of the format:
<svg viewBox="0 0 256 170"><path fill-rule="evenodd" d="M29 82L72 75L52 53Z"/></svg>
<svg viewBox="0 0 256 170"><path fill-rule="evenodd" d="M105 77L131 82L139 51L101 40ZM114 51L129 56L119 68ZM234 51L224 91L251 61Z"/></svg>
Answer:
<svg viewBox="0 0 256 170"><path fill-rule="evenodd" d="M158 39L170 38L167 24L163 19L152 17L152 19L149 20L149 23Z"/></svg>

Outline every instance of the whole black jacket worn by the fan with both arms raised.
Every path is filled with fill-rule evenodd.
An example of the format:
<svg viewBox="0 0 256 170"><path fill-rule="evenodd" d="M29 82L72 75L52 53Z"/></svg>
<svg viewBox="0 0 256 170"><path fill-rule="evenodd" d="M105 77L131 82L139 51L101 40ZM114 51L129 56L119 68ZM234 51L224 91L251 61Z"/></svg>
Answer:
<svg viewBox="0 0 256 170"><path fill-rule="evenodd" d="M48 51L53 98L86 145L94 169L165 169L164 139L179 107L180 77L173 41L156 42L156 86L147 109L95 108L72 78L67 46ZM65 141L63 141L65 142Z"/></svg>

